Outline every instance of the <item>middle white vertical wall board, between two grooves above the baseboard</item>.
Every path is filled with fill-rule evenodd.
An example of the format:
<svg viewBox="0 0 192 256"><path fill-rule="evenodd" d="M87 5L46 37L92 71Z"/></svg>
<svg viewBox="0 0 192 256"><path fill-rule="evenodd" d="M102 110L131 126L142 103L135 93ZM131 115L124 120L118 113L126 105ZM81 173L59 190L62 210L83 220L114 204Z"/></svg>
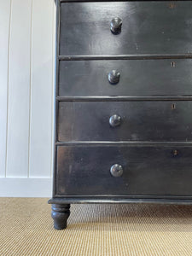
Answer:
<svg viewBox="0 0 192 256"><path fill-rule="evenodd" d="M7 177L27 177L28 173L31 18L32 0L12 0Z"/></svg>

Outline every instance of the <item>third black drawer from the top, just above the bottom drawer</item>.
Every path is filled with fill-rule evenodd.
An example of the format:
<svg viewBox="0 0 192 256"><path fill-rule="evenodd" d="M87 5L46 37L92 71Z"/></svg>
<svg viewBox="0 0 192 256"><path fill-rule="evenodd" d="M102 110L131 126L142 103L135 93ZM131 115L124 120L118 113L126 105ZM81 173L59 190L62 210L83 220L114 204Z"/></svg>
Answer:
<svg viewBox="0 0 192 256"><path fill-rule="evenodd" d="M192 102L59 102L59 141L192 141Z"/></svg>

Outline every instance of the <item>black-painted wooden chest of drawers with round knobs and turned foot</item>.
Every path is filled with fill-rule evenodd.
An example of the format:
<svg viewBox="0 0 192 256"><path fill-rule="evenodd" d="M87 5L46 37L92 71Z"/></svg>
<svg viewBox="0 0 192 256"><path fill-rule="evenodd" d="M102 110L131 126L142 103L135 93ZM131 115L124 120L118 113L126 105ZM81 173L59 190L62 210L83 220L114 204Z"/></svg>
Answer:
<svg viewBox="0 0 192 256"><path fill-rule="evenodd" d="M52 218L192 203L192 1L57 1Z"/></svg>

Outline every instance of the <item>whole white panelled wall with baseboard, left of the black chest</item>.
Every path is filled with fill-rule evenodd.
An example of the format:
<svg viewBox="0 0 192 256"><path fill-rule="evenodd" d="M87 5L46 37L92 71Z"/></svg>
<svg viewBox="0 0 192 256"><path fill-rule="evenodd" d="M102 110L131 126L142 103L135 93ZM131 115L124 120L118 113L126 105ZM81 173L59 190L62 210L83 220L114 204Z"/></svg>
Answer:
<svg viewBox="0 0 192 256"><path fill-rule="evenodd" d="M0 70L0 196L50 197L54 0L0 0Z"/></svg>

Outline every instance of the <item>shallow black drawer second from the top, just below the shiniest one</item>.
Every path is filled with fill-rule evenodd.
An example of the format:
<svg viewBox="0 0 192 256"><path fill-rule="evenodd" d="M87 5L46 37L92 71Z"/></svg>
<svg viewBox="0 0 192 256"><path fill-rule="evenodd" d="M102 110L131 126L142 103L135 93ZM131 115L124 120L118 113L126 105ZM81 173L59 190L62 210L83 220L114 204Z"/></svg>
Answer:
<svg viewBox="0 0 192 256"><path fill-rule="evenodd" d="M190 59L61 61L59 96L192 95L191 73Z"/></svg>

